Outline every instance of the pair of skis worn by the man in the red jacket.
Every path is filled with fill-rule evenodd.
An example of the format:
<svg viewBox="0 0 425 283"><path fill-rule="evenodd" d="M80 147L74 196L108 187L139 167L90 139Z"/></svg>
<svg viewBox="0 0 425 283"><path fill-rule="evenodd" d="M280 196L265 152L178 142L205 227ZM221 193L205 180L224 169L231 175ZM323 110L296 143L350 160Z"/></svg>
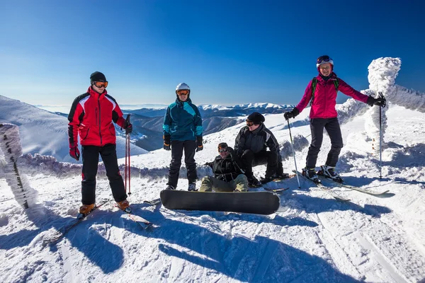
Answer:
<svg viewBox="0 0 425 283"><path fill-rule="evenodd" d="M101 201L99 204L97 204L94 207L94 209L91 209L91 211L88 214L80 216L80 218L74 219L71 224L64 226L61 229L61 231L57 231L57 233L54 236L45 239L44 242L52 245L52 244L55 244L55 243L61 241L62 238L64 238L64 236L66 236L67 233L69 231L71 231L75 226L80 224L82 221L86 220L87 217L91 216L91 214L93 214L93 212L95 212L99 207L102 207L104 204L106 204L108 202L110 202L110 200ZM118 207L118 206L115 205L115 207ZM132 221L135 221L135 223L137 223L142 229L148 229L150 226L152 226L152 223L150 221L142 218L141 216L133 214L130 209L123 210L123 212L125 212L125 214L127 214L128 218L131 219Z"/></svg>

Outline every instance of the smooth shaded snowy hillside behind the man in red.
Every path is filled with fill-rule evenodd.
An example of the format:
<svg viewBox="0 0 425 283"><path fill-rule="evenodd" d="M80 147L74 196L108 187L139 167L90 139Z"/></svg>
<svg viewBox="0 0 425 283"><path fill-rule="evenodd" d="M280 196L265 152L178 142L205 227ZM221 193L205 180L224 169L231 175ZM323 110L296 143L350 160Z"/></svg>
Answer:
<svg viewBox="0 0 425 283"><path fill-rule="evenodd" d="M1 122L19 126L23 154L50 155L55 156L58 161L76 162L69 156L67 117L0 96ZM117 144L118 156L124 157L125 138L117 137ZM147 152L134 145L131 146L131 150L133 154Z"/></svg>

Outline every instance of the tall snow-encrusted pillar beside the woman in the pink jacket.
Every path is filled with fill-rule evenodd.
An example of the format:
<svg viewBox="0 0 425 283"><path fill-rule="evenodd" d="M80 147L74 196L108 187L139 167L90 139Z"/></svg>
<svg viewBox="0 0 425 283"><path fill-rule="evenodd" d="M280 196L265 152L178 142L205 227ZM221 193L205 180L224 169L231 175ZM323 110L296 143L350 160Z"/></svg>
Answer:
<svg viewBox="0 0 425 283"><path fill-rule="evenodd" d="M380 108L373 106L366 112L365 129L368 137L372 140L372 150L374 154L380 152L380 121L382 130L382 145L384 144L384 134L387 128L387 115L385 114L388 109L388 100L390 97L395 96L397 93L397 87L395 86L395 78L402 65L402 60L399 58L382 57L372 61L369 69L369 89L375 93L375 98L378 97L378 93L387 98L387 106ZM381 120L379 119L381 111Z"/></svg>

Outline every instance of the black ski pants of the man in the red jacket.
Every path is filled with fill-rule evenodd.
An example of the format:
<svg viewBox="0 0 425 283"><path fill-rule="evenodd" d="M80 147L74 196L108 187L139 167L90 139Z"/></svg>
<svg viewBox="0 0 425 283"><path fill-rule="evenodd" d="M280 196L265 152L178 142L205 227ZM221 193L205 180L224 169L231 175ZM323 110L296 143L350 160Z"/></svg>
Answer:
<svg viewBox="0 0 425 283"><path fill-rule="evenodd" d="M81 146L83 156L83 169L81 181L81 195L83 204L96 202L96 174L99 163L99 154L105 164L106 176L111 185L112 195L115 202L127 199L123 177L118 168L117 152L115 144L104 146Z"/></svg>

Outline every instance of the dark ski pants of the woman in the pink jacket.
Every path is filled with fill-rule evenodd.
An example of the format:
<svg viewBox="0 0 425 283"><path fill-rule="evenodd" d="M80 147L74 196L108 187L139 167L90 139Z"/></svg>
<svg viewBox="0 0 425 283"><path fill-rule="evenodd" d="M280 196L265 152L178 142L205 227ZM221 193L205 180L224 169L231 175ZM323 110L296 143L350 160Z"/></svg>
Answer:
<svg viewBox="0 0 425 283"><path fill-rule="evenodd" d="M323 129L326 129L331 139L331 150L327 156L326 165L335 167L336 162L338 162L339 153L341 152L342 146L344 146L338 118L312 119L310 120L310 129L312 131L312 144L310 144L308 148L307 168L316 167L317 155L319 154L323 141Z"/></svg>

